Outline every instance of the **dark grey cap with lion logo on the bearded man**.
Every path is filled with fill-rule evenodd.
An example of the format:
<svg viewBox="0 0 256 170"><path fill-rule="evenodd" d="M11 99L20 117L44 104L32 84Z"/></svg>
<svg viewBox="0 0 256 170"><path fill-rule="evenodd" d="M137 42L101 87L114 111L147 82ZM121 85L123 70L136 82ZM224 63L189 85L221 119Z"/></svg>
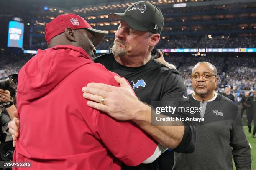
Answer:
<svg viewBox="0 0 256 170"><path fill-rule="evenodd" d="M108 18L122 19L137 31L151 31L160 34L164 26L164 16L155 5L139 1L129 6L124 13L110 13Z"/></svg>

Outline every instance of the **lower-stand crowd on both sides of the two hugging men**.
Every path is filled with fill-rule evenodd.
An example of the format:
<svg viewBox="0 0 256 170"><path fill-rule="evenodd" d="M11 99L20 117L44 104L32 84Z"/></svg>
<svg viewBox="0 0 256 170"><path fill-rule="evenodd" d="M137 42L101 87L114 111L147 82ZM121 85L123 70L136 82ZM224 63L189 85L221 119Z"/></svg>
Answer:
<svg viewBox="0 0 256 170"><path fill-rule="evenodd" d="M97 54L100 55L100 54ZM20 68L31 58L31 54L11 55L1 54L0 78L18 73ZM220 88L230 85L234 90L250 90L256 88L256 57L248 54L236 56L234 54L218 53L206 56L192 56L191 54L164 53L167 62L177 67L187 87L191 87L190 75L193 66L200 61L207 61L216 66L220 81ZM236 67L234 67L236 66Z"/></svg>

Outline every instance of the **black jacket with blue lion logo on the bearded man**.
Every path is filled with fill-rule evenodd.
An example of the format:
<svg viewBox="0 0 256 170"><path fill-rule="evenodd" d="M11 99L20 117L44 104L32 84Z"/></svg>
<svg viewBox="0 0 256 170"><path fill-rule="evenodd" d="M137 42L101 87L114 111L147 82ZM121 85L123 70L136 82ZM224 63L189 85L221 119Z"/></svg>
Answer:
<svg viewBox="0 0 256 170"><path fill-rule="evenodd" d="M175 69L160 64L151 59L140 67L125 67L120 65L112 53L101 55L95 58L95 62L104 65L108 70L125 77L133 87L138 98L151 105L151 101L169 101L173 98L183 98L186 95L186 87L179 72ZM193 122L183 122L185 125L184 136L181 143L174 149L177 152L191 153L197 143L197 130ZM136 139L134 139L136 140ZM161 159L161 156L158 158ZM166 161L172 162L172 157L166 157ZM157 170L157 162L151 164L141 164L138 167L124 168L125 170ZM172 163L170 163L172 166ZM168 169L170 169L169 167ZM162 169L161 169L162 170Z"/></svg>

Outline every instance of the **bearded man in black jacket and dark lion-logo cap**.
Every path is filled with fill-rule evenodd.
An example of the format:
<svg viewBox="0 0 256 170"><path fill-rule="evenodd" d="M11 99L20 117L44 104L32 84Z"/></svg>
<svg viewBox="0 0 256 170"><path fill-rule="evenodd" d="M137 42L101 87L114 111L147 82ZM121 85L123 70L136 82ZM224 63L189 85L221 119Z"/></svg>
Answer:
<svg viewBox="0 0 256 170"><path fill-rule="evenodd" d="M148 2L141 1L128 7L124 13L109 14L108 18L120 19L120 25L115 34L115 41L112 48L113 53L96 57L95 62L125 77L138 98L148 105L151 105L151 101L168 101L172 98L186 97L186 87L177 70L169 69L152 59L150 55L153 47L159 42L160 33L164 25L161 10ZM109 99L106 96L103 97L105 97L105 101ZM128 103L122 105L120 100L118 101L119 106L124 107L124 105L128 105ZM146 106L142 108L145 111L145 108L148 109L150 107ZM130 109L136 110L135 106ZM141 115L145 113L143 111L141 111ZM107 111L105 110L104 112ZM150 117L150 113L149 109L146 112L148 117ZM167 143L172 143L177 137L182 138L179 142L174 142L175 144L172 146L174 151L189 153L193 150L191 148L195 147L196 129L194 126L190 126L194 122L179 122L180 126L163 126L158 127L159 129L151 126L151 122L146 126L144 126L145 123L142 125L140 123L141 121L138 122L138 125L155 139L158 139L159 137L156 137L156 135L160 135L161 133L163 134L162 137L166 134L171 134L172 131L173 135L176 134L174 136L166 135L163 140L159 138L161 141L158 140L158 142L162 145L166 146ZM152 130L151 128L157 130ZM182 135L183 133L184 135ZM154 163L148 165L141 164L138 167L123 166L123 169L169 170L172 168L172 165L173 151L168 150Z"/></svg>

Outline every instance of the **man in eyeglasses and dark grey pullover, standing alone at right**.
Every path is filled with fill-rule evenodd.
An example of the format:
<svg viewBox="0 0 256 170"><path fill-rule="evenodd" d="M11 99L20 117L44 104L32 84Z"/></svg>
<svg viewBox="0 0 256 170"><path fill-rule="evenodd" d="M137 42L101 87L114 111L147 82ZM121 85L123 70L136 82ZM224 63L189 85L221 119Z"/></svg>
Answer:
<svg viewBox="0 0 256 170"><path fill-rule="evenodd" d="M197 124L197 148L194 153L174 153L173 170L233 170L232 156L237 170L251 170L250 146L241 126L237 105L214 92L217 69L209 62L199 62L192 70L191 107L201 107L195 117L203 117Z"/></svg>

